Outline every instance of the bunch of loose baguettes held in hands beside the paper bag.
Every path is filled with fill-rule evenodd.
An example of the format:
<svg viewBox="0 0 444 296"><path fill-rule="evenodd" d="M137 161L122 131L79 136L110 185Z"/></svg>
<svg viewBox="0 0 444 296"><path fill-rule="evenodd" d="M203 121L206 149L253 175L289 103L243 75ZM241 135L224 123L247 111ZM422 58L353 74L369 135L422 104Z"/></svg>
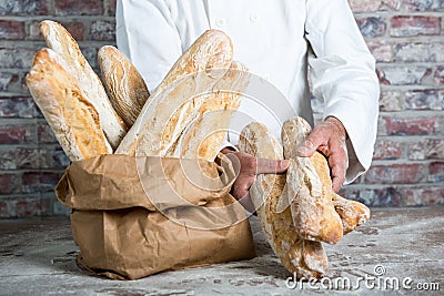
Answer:
<svg viewBox="0 0 444 296"><path fill-rule="evenodd" d="M310 134L302 118L284 122L282 145L261 123L240 135L240 150L256 157L291 161L286 175L261 174L250 190L262 228L282 264L299 278L320 278L329 271L322 242L335 244L370 217L370 210L332 190L325 157L299 157L295 150Z"/></svg>

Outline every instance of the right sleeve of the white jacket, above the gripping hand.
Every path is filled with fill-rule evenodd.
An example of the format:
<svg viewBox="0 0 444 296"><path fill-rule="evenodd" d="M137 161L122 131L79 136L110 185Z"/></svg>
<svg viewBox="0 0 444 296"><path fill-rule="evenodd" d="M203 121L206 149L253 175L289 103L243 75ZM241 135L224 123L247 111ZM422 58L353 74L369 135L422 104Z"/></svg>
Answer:
<svg viewBox="0 0 444 296"><path fill-rule="evenodd" d="M370 53L346 0L306 0L305 38L313 94L324 100L323 119L347 131L346 182L370 167L376 140L380 85Z"/></svg>

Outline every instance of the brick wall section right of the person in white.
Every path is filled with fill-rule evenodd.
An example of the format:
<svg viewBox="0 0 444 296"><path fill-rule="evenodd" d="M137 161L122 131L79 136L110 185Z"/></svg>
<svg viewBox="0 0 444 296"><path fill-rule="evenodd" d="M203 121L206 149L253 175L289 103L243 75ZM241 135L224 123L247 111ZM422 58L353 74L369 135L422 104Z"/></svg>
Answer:
<svg viewBox="0 0 444 296"><path fill-rule="evenodd" d="M372 167L343 194L372 206L444 204L444 1L349 2L382 94Z"/></svg>

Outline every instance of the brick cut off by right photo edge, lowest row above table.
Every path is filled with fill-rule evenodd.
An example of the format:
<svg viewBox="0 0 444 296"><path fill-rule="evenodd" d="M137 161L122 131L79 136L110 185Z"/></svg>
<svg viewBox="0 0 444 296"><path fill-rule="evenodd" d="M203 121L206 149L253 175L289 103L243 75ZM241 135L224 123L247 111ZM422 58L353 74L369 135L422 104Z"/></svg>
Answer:
<svg viewBox="0 0 444 296"><path fill-rule="evenodd" d="M406 206L443 205L443 186L430 186L408 188L404 194Z"/></svg>

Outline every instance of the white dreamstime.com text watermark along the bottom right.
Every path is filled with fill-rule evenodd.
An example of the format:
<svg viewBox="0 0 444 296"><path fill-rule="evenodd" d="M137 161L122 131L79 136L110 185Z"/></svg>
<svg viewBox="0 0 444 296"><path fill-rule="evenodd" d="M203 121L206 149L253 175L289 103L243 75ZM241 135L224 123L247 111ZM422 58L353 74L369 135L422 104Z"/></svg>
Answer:
<svg viewBox="0 0 444 296"><path fill-rule="evenodd" d="M305 283L305 284L304 284ZM440 290L440 283L415 282L412 277L390 277L383 265L374 267L374 274L365 274L356 278L350 277L323 277L321 279L302 277L299 280L296 275L290 276L285 280L285 286L290 289L313 289L313 290Z"/></svg>

